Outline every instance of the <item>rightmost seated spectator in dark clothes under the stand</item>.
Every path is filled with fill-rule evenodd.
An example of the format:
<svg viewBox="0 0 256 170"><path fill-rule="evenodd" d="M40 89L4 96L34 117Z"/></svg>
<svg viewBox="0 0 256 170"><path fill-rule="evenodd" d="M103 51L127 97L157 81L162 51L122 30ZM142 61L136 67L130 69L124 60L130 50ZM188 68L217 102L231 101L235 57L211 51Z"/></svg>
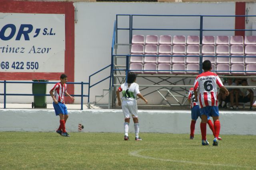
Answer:
<svg viewBox="0 0 256 170"><path fill-rule="evenodd" d="M246 79L242 80L242 86L248 86ZM247 92L249 92L249 94L247 94ZM254 98L254 93L252 89L249 89L249 88L238 89L238 93L236 93L236 106L238 106L238 102L243 102L243 103L250 102L250 110L252 110L253 98Z"/></svg>

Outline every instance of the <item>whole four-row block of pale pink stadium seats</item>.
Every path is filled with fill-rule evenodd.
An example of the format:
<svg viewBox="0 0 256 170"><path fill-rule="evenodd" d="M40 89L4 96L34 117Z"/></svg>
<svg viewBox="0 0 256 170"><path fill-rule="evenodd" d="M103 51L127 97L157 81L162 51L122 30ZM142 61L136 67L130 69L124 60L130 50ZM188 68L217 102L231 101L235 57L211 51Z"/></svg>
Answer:
<svg viewBox="0 0 256 170"><path fill-rule="evenodd" d="M216 42L215 36L203 36L202 45L199 36L194 35L174 35L173 39L171 35L146 35L146 40L144 37L132 36L130 53L137 55L130 57L130 69L140 68L144 74L198 74L200 56L202 62L210 60L212 70L216 67L222 75L250 75L253 72L243 71L252 70L256 64L256 36L246 36L245 40L242 36L216 36Z"/></svg>

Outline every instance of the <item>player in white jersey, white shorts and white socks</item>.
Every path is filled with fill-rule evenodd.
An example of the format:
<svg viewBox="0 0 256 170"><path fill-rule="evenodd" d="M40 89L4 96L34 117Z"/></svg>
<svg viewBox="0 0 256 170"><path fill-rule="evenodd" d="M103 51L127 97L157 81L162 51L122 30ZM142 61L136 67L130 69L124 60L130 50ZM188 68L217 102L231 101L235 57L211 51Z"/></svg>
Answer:
<svg viewBox="0 0 256 170"><path fill-rule="evenodd" d="M141 141L139 137L139 120L138 120L138 108L136 102L136 96L144 100L146 104L148 101L140 94L139 85L135 83L136 74L134 72L129 72L127 76L127 82L122 84L116 91L116 96L118 100L118 105L121 106L120 92L122 92L122 110L124 113L124 140L128 141L128 130L130 123L130 114L134 122L135 130L135 140Z"/></svg>

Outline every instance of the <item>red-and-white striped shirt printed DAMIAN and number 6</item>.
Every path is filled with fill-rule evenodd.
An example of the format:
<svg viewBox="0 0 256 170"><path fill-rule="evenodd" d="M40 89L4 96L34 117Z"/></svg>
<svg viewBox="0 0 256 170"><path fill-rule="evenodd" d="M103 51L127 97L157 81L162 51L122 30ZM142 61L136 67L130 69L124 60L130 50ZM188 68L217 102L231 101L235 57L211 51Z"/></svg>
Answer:
<svg viewBox="0 0 256 170"><path fill-rule="evenodd" d="M196 77L194 92L198 90L197 98L200 108L218 106L217 85L219 87L223 86L219 76L213 72L203 72Z"/></svg>

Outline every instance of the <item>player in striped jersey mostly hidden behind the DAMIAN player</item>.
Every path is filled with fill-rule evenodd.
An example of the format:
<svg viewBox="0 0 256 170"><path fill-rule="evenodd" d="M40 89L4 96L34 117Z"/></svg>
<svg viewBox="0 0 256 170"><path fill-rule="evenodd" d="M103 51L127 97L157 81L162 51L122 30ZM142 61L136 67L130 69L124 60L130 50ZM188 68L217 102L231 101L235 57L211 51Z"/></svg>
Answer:
<svg viewBox="0 0 256 170"><path fill-rule="evenodd" d="M189 90L188 102L190 103L190 108L191 108L190 139L194 139L196 120L198 119L198 117L201 118L201 113L200 113L200 108L196 102L193 88L190 88L190 90ZM207 118L207 124L209 125L210 129L212 130L213 135L215 136L214 126L212 124L210 116ZM221 137L218 137L218 139L222 140Z"/></svg>

